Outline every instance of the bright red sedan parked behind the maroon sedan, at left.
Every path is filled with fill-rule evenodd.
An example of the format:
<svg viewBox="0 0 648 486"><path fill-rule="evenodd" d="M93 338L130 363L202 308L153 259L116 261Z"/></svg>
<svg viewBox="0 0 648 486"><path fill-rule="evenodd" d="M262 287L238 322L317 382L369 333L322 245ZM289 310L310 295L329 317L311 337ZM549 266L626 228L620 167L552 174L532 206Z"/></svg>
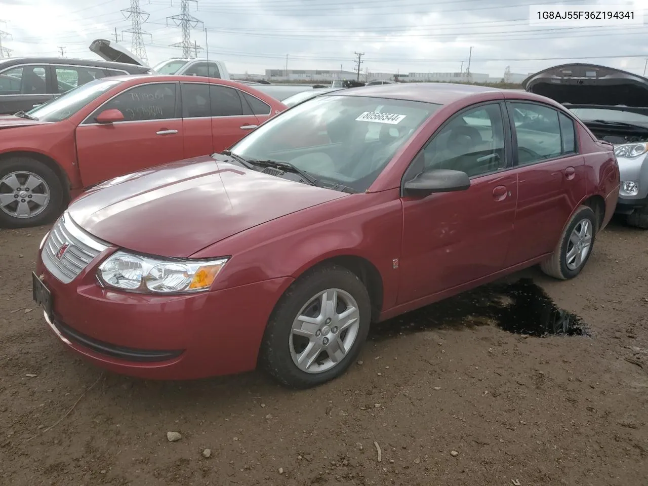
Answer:
<svg viewBox="0 0 648 486"><path fill-rule="evenodd" d="M0 117L0 226L51 222L84 188L221 152L286 107L196 76L119 76Z"/></svg>

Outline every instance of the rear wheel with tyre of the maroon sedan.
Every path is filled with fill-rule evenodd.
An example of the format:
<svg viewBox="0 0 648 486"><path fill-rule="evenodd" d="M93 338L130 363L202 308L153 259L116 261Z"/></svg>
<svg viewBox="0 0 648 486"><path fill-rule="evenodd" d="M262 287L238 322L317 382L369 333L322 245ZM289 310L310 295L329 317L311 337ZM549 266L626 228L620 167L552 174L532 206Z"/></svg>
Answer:
<svg viewBox="0 0 648 486"><path fill-rule="evenodd" d="M550 259L540 264L542 272L556 279L573 279L581 273L592 255L596 238L596 214L590 207L581 206L562 231Z"/></svg>

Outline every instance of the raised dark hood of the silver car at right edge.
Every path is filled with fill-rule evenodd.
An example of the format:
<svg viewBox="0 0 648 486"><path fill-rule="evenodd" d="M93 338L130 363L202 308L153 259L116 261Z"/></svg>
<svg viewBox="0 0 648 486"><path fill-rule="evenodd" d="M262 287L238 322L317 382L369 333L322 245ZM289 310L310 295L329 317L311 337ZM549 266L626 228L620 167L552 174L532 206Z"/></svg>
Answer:
<svg viewBox="0 0 648 486"><path fill-rule="evenodd" d="M596 64L562 64L522 82L529 93L561 104L648 107L648 78Z"/></svg>

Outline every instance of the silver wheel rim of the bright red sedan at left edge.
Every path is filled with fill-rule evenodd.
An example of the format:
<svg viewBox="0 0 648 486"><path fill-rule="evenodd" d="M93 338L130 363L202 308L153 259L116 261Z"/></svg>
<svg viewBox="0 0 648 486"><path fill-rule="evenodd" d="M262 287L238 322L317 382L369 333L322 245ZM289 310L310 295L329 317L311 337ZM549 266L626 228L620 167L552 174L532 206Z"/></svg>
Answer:
<svg viewBox="0 0 648 486"><path fill-rule="evenodd" d="M34 172L11 172L0 179L0 209L9 216L38 216L45 211L49 199L49 186Z"/></svg>

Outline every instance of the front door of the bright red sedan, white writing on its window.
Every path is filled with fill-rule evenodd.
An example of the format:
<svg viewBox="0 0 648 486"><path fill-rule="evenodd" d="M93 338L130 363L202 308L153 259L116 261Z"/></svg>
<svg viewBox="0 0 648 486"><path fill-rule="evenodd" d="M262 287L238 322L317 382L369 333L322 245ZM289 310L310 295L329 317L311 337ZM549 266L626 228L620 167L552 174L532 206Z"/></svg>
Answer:
<svg viewBox="0 0 648 486"><path fill-rule="evenodd" d="M111 98L76 128L84 186L183 159L183 126L176 83L150 82ZM97 115L117 109L125 120L100 124Z"/></svg>

